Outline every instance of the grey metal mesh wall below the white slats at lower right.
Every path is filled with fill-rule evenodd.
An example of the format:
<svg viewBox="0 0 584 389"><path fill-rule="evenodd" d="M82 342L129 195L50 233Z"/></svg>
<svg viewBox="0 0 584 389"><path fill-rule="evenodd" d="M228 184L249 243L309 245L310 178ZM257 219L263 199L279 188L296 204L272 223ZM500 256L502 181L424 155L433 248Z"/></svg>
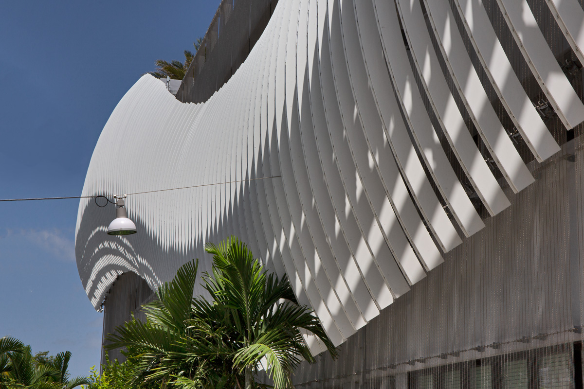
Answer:
<svg viewBox="0 0 584 389"><path fill-rule="evenodd" d="M302 366L298 387L573 388L582 374L573 365L584 302L582 143L531 163L538 180L507 191L509 209L350 338L338 360Z"/></svg>

